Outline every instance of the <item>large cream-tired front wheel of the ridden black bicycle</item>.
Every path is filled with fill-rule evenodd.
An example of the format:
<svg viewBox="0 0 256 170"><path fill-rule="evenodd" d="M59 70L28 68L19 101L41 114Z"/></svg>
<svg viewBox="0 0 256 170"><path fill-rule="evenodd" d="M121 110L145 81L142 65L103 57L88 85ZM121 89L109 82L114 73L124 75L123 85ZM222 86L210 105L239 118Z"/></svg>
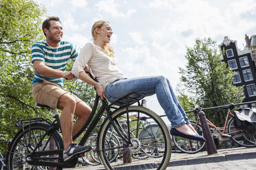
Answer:
<svg viewBox="0 0 256 170"><path fill-rule="evenodd" d="M156 114L155 112L149 110L148 108L144 108L142 106L129 106L128 107L128 117L136 119L135 117L147 117L148 121L152 121L153 123L156 123L160 127L159 136L161 138L157 138L158 141L151 141L151 138L144 138L143 141L141 141L138 138L134 138L131 136L131 143L133 143L132 146L127 147L125 145L124 141L120 141L122 144L120 157L117 160L117 162L109 162L107 158L107 151L114 152L115 146L111 145L105 145L105 138L107 136L107 130L109 128L113 128L111 125L111 121L109 119L106 119L103 125L100 127L100 132L98 136L98 149L99 149L99 156L100 160L105 166L105 169L118 169L120 166L122 169L166 169L167 165L169 164L169 160L171 158L171 136L169 133L169 130L162 121L162 119ZM118 131L121 132L126 138L128 132L124 131L124 128L121 127L120 123L118 121L127 119L127 110L126 108L120 108L118 110L115 110L111 114L112 119L114 120L114 123L118 126ZM136 125L138 124L138 121L129 122L129 128L132 130ZM125 125L125 123L122 123L122 125ZM115 132L115 135L118 136L118 138L121 138L119 134ZM149 158L150 161L143 161L140 162L138 159L131 158L131 163L125 162L125 166L123 164L124 156L127 156L124 154L124 151L131 151L131 153L128 153L132 156L132 152L136 149L140 149L140 147L150 147L149 144L154 142L154 144L162 143L164 145L164 150L162 151L162 157L161 158ZM156 143L157 142L157 143ZM125 146L125 147L124 147ZM109 156L109 155L108 155ZM110 155L111 156L111 155ZM141 164L142 163L142 164Z"/></svg>

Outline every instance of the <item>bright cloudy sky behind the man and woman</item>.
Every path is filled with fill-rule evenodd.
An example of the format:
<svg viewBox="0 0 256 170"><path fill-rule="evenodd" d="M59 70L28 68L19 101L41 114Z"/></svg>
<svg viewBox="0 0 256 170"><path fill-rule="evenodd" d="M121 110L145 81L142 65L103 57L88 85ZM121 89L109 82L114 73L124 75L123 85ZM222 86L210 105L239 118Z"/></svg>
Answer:
<svg viewBox="0 0 256 170"><path fill-rule="evenodd" d="M256 0L35 0L47 16L58 16L63 40L81 49L92 42L91 29L98 20L113 29L110 45L118 67L127 77L164 75L177 88L179 67L186 64L186 47L196 39L211 38L220 45L224 36L244 49L245 34L256 34ZM156 95L147 106L164 111Z"/></svg>

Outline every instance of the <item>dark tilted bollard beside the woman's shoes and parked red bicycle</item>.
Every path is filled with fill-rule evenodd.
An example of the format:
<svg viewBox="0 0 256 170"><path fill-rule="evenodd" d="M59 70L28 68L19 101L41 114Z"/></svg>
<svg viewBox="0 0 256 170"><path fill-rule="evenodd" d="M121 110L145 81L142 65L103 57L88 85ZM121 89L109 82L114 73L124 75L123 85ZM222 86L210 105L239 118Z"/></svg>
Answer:
<svg viewBox="0 0 256 170"><path fill-rule="evenodd" d="M204 134L204 138L206 139L205 144L206 144L207 153L209 155L217 154L217 149L216 149L215 143L213 141L213 136L211 134L209 125L206 121L206 117L205 117L204 112L200 111L199 112L199 117L200 117L200 122L201 122L201 126L202 126L202 131L203 131L203 134Z"/></svg>

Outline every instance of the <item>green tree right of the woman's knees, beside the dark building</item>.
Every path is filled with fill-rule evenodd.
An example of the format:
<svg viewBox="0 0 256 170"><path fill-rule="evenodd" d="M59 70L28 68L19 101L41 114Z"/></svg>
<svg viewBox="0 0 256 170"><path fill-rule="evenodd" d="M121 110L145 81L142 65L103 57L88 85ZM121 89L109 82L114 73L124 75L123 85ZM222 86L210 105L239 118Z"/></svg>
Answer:
<svg viewBox="0 0 256 170"><path fill-rule="evenodd" d="M239 103L244 99L243 88L233 86L234 73L220 60L222 53L215 41L211 38L198 39L194 47L187 47L186 50L188 62L185 69L179 68L182 75L180 80L197 103L200 99L209 99L204 103L206 108ZM223 125L224 112L226 110L209 110L206 117L216 125Z"/></svg>

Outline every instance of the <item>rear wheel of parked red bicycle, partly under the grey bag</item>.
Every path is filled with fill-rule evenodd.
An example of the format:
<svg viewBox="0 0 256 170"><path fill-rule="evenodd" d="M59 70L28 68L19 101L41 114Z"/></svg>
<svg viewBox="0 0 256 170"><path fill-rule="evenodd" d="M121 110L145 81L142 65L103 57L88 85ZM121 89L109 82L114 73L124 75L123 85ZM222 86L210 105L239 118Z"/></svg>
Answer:
<svg viewBox="0 0 256 170"><path fill-rule="evenodd" d="M235 127L234 121L235 117L228 121L228 134L231 134L232 140L243 147L256 147L256 132L254 130L241 131Z"/></svg>

